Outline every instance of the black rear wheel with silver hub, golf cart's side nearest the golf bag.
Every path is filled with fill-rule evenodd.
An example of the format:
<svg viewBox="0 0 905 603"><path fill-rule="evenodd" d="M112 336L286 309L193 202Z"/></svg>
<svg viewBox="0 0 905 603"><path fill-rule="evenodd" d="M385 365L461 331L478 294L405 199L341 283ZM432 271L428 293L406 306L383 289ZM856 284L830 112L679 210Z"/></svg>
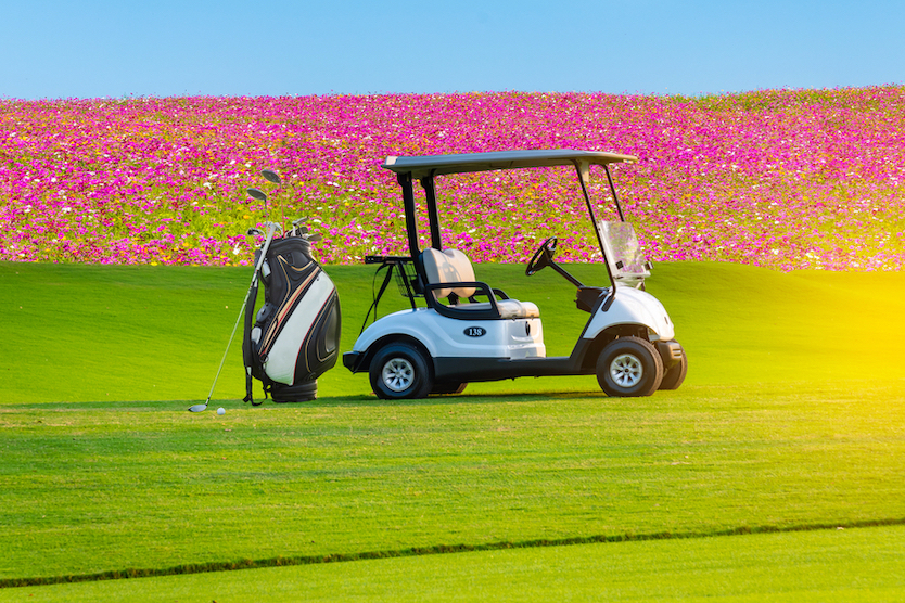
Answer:
<svg viewBox="0 0 905 603"><path fill-rule="evenodd" d="M434 385L431 363L409 344L390 344L371 360L371 389L383 400L426 398Z"/></svg>

